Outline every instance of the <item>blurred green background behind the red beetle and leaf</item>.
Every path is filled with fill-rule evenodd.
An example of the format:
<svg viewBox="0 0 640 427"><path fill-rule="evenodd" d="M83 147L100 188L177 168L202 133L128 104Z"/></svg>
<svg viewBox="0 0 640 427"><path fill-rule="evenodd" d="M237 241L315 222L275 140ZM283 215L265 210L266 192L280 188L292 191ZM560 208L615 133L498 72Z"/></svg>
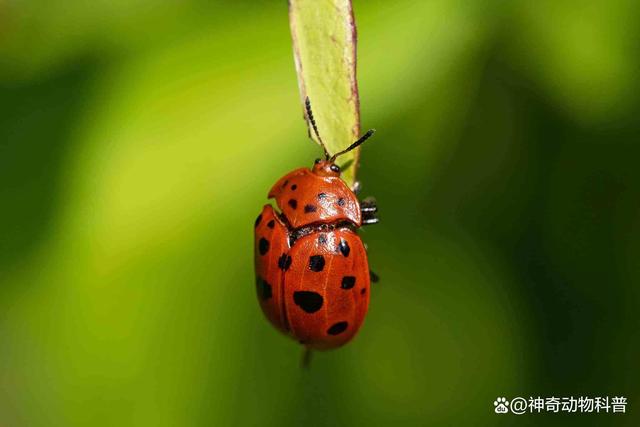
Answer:
<svg viewBox="0 0 640 427"><path fill-rule="evenodd" d="M382 281L305 372L253 279L320 153L286 2L0 3L0 425L640 424L640 3L354 8ZM628 413L493 413L538 395Z"/></svg>

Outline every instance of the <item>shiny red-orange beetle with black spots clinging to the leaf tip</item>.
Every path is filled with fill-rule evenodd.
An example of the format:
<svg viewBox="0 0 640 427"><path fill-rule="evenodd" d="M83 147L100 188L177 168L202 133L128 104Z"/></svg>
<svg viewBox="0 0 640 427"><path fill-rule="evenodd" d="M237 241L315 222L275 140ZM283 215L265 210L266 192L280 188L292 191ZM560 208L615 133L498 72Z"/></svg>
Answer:
<svg viewBox="0 0 640 427"><path fill-rule="evenodd" d="M378 222L375 200L359 201L335 160L374 130L331 156L308 98L305 105L325 158L288 173L269 191L278 210L265 205L255 222L256 289L277 329L307 350L328 350L349 342L364 321L375 275L357 230Z"/></svg>

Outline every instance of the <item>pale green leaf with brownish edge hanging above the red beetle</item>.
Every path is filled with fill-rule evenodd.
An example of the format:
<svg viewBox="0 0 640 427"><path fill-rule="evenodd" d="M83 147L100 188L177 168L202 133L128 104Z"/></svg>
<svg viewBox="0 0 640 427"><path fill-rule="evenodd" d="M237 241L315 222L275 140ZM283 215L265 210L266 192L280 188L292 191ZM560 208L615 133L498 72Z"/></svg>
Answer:
<svg viewBox="0 0 640 427"><path fill-rule="evenodd" d="M360 136L351 1L289 0L289 22L303 111L304 99L309 97L320 136L327 150L337 153ZM351 161L342 172L342 179L351 186L359 153L356 148L337 161L340 166Z"/></svg>

